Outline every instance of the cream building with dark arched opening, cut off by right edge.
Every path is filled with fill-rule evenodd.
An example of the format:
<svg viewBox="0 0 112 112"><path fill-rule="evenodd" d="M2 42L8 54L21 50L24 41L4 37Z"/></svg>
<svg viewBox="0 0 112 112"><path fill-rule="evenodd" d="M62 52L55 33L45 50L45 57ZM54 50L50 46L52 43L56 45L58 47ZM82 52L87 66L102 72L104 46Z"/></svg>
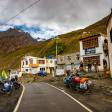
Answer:
<svg viewBox="0 0 112 112"><path fill-rule="evenodd" d="M112 78L112 9L107 23L107 37L109 48L110 73Z"/></svg>

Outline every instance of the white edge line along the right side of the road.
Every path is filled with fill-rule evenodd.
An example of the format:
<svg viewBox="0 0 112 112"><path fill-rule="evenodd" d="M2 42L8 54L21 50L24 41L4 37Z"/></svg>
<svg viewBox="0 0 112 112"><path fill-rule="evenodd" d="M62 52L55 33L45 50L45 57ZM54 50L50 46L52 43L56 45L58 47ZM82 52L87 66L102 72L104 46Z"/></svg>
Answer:
<svg viewBox="0 0 112 112"><path fill-rule="evenodd" d="M46 84L48 84L48 83L46 83ZM74 97L72 97L70 94L66 93L64 90L61 90L61 89L59 89L59 88L57 88L57 87L55 87L55 86L53 86L51 84L48 84L48 85L51 86L51 87L53 87L53 88L55 88L55 89L57 89L57 90L59 90L59 91L61 91L61 92L63 92L69 98L71 98L72 100L74 100L75 102L77 102L79 105L81 105L83 108L85 108L88 112L93 112L91 109L89 109L88 107L86 107L84 104L82 104L80 101L78 101L77 99L75 99Z"/></svg>

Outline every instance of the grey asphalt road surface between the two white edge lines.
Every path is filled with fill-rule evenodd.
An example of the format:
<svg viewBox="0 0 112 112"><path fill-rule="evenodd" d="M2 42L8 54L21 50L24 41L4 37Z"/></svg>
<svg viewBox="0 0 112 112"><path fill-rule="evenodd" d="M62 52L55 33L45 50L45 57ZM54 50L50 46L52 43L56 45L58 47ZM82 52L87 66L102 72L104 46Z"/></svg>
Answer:
<svg viewBox="0 0 112 112"><path fill-rule="evenodd" d="M26 84L25 88L18 112L88 112L46 83Z"/></svg>

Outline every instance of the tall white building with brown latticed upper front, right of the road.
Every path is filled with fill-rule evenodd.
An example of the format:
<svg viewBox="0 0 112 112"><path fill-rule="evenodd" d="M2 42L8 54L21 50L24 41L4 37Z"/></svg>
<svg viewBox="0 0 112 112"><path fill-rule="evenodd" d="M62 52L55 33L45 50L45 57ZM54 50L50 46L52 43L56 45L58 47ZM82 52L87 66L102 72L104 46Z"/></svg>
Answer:
<svg viewBox="0 0 112 112"><path fill-rule="evenodd" d="M104 44L106 36L102 34L92 35L80 39L80 59L83 61L85 68L88 66L98 66L99 71L104 70L104 61L108 64L108 55L105 48L108 47Z"/></svg>

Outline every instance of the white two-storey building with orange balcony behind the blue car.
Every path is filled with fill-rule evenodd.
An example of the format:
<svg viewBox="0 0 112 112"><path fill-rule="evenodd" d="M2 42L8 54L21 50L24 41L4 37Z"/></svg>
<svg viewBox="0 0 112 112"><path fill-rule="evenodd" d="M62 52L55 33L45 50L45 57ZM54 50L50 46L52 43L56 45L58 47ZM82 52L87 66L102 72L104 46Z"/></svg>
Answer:
<svg viewBox="0 0 112 112"><path fill-rule="evenodd" d="M51 73L56 67L56 59L25 56L21 60L21 72L36 74L39 71Z"/></svg>

